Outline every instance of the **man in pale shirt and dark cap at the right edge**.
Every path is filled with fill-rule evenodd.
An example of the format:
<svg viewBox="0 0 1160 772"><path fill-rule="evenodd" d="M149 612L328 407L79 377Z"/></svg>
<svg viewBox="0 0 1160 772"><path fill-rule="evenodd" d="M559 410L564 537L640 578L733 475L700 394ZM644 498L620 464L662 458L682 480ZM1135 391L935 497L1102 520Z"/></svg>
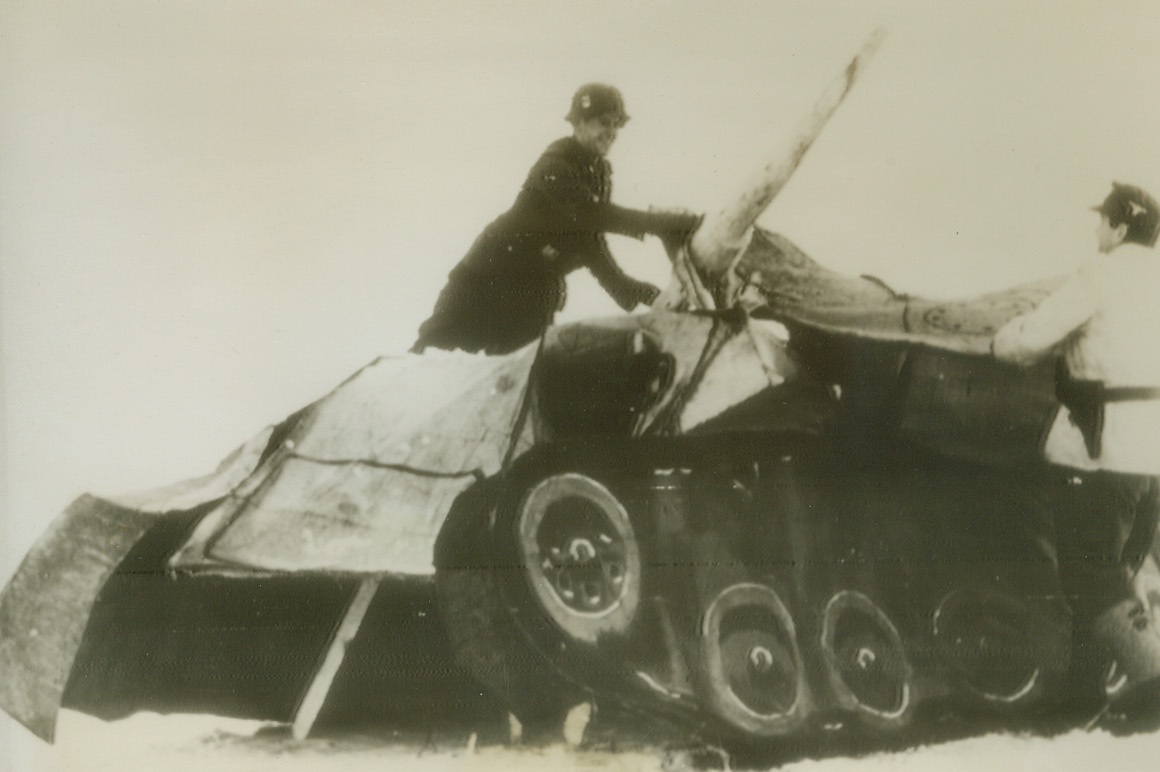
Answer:
<svg viewBox="0 0 1160 772"><path fill-rule="evenodd" d="M1092 673L1117 661L1133 682L1119 702L1150 706L1153 721L1160 635L1148 604L1137 598L1146 595L1137 574L1160 511L1160 256L1152 249L1160 205L1117 182L1093 210L1100 214L1097 254L1034 311L1003 326L992 351L1018 364L1058 357L1061 407L1044 456L1063 471L1065 486L1056 531L1074 664Z"/></svg>

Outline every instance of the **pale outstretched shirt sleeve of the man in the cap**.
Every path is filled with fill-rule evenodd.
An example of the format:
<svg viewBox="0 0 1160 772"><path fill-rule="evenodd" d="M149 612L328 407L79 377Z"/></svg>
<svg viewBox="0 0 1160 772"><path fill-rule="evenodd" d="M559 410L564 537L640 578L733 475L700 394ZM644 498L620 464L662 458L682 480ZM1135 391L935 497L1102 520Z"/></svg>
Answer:
<svg viewBox="0 0 1160 772"><path fill-rule="evenodd" d="M991 342L995 357L1028 365L1052 354L1095 313L1094 278L1090 269L1075 272L1034 311L1003 325Z"/></svg>

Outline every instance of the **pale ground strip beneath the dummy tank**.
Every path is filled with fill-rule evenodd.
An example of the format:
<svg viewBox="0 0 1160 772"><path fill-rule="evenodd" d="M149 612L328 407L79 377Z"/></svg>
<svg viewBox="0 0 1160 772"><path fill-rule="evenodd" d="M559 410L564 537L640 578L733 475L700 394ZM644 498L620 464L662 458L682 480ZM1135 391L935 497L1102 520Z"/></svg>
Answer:
<svg viewBox="0 0 1160 772"><path fill-rule="evenodd" d="M464 736L466 733L466 736ZM599 745L599 746L596 746ZM6 753L20 772L363 772L375 770L474 771L601 770L675 772L694 769L741 769L724 755L699 749L665 749L644 744L611 749L607 740L586 740L580 746L563 742L544 746L512 746L481 741L464 729L328 731L295 741L285 727L217 716L137 714L106 723L64 712L56 745L20 743ZM929 770L1000 772L1155 770L1160 734L1115 737L1103 731L1073 731L1053 738L989 735L861 758L806 759L780 769L786 772L843 770ZM0 767L3 769L3 767Z"/></svg>

